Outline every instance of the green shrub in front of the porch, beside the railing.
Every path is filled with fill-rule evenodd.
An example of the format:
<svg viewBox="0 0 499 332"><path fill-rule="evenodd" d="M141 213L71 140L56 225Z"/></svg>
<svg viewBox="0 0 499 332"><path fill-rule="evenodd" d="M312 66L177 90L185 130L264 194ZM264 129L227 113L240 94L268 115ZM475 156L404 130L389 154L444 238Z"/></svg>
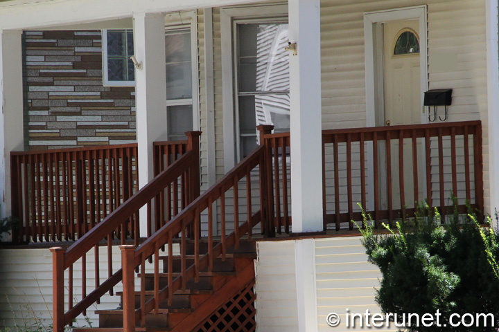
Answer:
<svg viewBox="0 0 499 332"><path fill-rule="evenodd" d="M436 210L426 214L419 214L411 224L397 223L396 231L385 225L389 234L384 235L375 234L365 217L362 243L369 261L383 274L376 302L383 313L396 313L399 318L403 313L419 317L437 309L441 313L441 327L408 331L498 331L476 325L448 327L453 313L492 313L498 326L498 233L482 230L472 215L459 220L457 211L446 225L441 225Z"/></svg>

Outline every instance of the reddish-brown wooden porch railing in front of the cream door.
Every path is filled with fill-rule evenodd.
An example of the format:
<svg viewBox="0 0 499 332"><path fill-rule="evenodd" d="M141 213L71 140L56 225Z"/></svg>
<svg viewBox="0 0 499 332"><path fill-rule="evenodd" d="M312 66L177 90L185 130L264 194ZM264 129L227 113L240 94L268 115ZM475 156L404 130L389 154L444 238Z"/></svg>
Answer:
<svg viewBox="0 0 499 332"><path fill-rule="evenodd" d="M466 201L483 212L480 121L326 130L322 140L324 228L353 229L356 203L376 225L413 217L423 200L444 220L450 196L460 212Z"/></svg>

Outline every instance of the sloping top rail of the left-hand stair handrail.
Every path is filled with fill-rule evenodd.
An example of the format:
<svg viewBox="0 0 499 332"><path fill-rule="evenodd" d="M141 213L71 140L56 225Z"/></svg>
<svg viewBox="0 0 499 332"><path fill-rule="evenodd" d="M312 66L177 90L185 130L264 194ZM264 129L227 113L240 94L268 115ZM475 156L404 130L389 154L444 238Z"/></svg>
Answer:
<svg viewBox="0 0 499 332"><path fill-rule="evenodd" d="M130 199L120 205L119 208L116 208L116 210L111 212L111 214L101 223L98 223L76 243L73 243L64 254L64 268L71 266L71 264L81 257L82 253L90 250L90 248L94 247L100 240L107 237L112 230L118 228L132 213L155 197L157 192L165 185L175 181L175 178L180 176L180 174L193 163L193 158L195 158L194 153L192 151L187 151L186 154L180 157L175 163L164 169L164 171L153 178L152 181L143 186L137 194L130 197Z"/></svg>

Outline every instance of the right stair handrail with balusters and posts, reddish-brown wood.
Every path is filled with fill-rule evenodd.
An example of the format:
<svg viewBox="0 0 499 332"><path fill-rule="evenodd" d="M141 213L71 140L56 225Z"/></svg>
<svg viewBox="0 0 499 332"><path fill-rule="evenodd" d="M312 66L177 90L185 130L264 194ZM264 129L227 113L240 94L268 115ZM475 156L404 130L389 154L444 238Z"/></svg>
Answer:
<svg viewBox="0 0 499 332"><path fill-rule="evenodd" d="M273 126L260 126L261 136L270 133ZM268 151L261 140L261 145L252 153L244 158L225 176L220 178L215 185L209 188L189 204L180 214L177 214L166 225L160 228L155 234L146 239L141 245L135 249L134 255L130 254L130 247L122 246L122 266L125 273L128 273L126 278L129 282L123 285L123 322L125 322L125 332L135 331L135 322L140 321L141 326L145 325L145 316L151 311L159 313L159 304L168 299L168 303L172 303L173 293L180 288L186 287L186 282L195 279L198 282L200 270L208 267L211 271L213 268L213 259L222 257L225 259L227 248L231 246L239 246L239 240L245 234L248 239L252 238L252 228L261 222L262 231L268 233L270 225L268 224L268 197L266 187L267 163L265 156ZM251 172L259 167L259 186L260 186L260 210L252 213L251 197L247 197L247 220L240 225L238 216L234 221L234 232L226 234L225 225L225 192L230 188L234 188L234 192L238 192L238 181L246 178L247 193L251 193ZM249 185L248 185L249 183ZM234 206L238 206L238 196L234 197ZM220 199L220 243L213 246L213 202ZM208 209L208 253L200 255L200 214L203 210ZM237 208L238 209L238 208ZM238 215L238 210L234 211L234 215ZM181 234L180 246L182 259L182 272L179 276L173 278L173 241L175 234ZM194 264L187 267L186 265L186 239L188 235L194 240ZM159 289L159 249L168 247L168 286ZM202 257L201 257L202 256ZM154 295L146 301L145 290L145 262L146 259L154 257L155 280L154 280ZM130 261L133 259L133 261ZM126 267L126 268L125 268ZM141 273L141 306L135 309L134 306L134 278L135 269L140 268ZM133 318L132 318L133 317Z"/></svg>

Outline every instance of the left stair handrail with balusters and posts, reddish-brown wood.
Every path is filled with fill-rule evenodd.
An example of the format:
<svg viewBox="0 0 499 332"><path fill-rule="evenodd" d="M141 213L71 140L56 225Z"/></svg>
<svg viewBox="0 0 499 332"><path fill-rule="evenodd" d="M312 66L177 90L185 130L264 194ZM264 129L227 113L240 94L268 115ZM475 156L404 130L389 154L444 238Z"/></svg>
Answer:
<svg viewBox="0 0 499 332"><path fill-rule="evenodd" d="M112 293L112 288L116 286L122 279L122 269L112 273L112 266L108 269L108 278L103 283L98 284L98 268L96 269L96 287L86 295L86 277L85 264L86 255L91 248L96 248L98 255L98 246L101 241L107 239L107 248L110 252L112 246L112 233L117 228L122 228L125 223L133 219L135 234L134 245L139 244L139 210L147 205L148 219L150 219L151 203L153 200L157 202L160 193L172 183L177 185L180 177L188 180L184 183L181 192L186 192L187 203L190 203L199 195L200 192L200 158L199 158L199 137L200 131L190 131L186 133L188 137L187 151L174 163L166 167L164 171L159 173L148 184L141 188L137 193L125 201L122 205L109 214L103 221L98 223L94 228L87 232L83 237L78 239L69 248L53 247L53 331L63 332L64 326L71 324L81 313L85 311L91 304L98 302L108 291ZM169 188L169 187L168 187ZM178 200L177 200L178 201ZM125 244L125 238L121 237L121 244ZM72 305L72 283L73 283L73 264L82 259L82 299L75 306ZM110 264L110 261L108 261ZM64 313L64 270L69 269L69 311Z"/></svg>

